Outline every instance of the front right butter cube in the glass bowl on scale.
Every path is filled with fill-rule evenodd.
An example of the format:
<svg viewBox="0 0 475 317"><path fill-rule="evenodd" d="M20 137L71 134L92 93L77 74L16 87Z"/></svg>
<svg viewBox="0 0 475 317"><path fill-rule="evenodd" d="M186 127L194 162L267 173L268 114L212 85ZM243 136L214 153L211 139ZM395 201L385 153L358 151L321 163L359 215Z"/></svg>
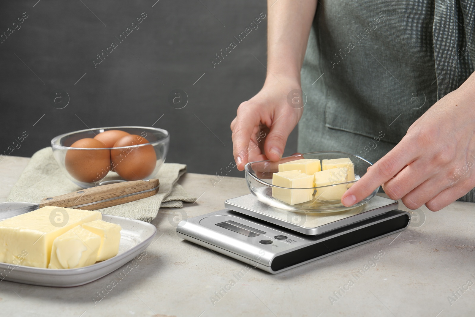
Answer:
<svg viewBox="0 0 475 317"><path fill-rule="evenodd" d="M332 168L317 172L314 176L315 187L345 183L348 180L348 169L346 167ZM347 188L346 184L317 188L315 199L323 201L340 200Z"/></svg>

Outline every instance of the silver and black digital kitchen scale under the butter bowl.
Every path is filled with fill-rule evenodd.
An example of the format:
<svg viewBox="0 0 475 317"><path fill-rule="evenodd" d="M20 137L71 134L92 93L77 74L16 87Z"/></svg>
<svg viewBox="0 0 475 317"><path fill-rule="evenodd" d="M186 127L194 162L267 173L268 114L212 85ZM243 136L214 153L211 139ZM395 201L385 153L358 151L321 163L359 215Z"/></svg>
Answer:
<svg viewBox="0 0 475 317"><path fill-rule="evenodd" d="M398 202L375 196L333 213L284 211L248 194L220 211L180 221L180 238L276 274L407 228Z"/></svg>

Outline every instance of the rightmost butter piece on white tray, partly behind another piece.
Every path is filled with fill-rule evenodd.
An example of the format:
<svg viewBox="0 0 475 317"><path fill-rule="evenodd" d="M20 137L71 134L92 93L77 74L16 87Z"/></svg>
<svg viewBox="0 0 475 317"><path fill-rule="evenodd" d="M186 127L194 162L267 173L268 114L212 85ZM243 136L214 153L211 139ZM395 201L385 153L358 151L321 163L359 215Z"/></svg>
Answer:
<svg viewBox="0 0 475 317"><path fill-rule="evenodd" d="M101 237L101 246L97 253L97 260L104 261L119 253L121 226L107 221L96 220L83 223L82 227Z"/></svg>

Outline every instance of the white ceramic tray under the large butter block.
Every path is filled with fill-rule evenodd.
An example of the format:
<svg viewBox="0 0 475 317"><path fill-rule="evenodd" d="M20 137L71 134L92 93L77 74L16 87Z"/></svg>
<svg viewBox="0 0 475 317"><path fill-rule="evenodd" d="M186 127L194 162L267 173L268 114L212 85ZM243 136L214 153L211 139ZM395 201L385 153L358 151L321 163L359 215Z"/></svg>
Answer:
<svg viewBox="0 0 475 317"><path fill-rule="evenodd" d="M2 211L31 205L34 204L29 202L0 203L0 221L4 219L1 216ZM54 287L84 285L102 278L138 256L150 245L157 232L154 225L144 221L109 215L102 215L102 219L119 224L122 227L119 253L115 257L79 269L40 269L0 262L0 283L4 279L12 282Z"/></svg>

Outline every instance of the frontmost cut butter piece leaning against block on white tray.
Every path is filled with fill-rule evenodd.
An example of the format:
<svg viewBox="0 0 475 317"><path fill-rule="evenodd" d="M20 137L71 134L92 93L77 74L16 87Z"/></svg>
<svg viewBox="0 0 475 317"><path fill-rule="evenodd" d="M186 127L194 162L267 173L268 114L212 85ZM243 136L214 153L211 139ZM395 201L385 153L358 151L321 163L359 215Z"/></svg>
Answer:
<svg viewBox="0 0 475 317"><path fill-rule="evenodd" d="M53 241L48 269L76 269L97 260L101 237L76 226Z"/></svg>

